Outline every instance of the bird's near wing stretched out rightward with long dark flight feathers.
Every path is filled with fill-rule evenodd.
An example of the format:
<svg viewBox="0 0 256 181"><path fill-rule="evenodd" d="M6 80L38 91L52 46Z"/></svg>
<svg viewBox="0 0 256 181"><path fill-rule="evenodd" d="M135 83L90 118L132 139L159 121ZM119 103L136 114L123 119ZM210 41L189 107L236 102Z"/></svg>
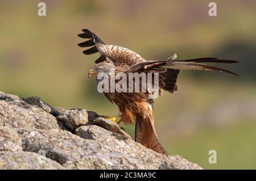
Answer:
<svg viewBox="0 0 256 181"><path fill-rule="evenodd" d="M233 64L238 61L234 60L218 60L217 58L196 58L191 60L170 60L170 61L146 61L140 64L131 66L129 72L151 72L159 73L159 87L171 93L177 91L177 76L181 70L215 70L225 73L238 74L215 66L201 64L200 62L217 62Z"/></svg>

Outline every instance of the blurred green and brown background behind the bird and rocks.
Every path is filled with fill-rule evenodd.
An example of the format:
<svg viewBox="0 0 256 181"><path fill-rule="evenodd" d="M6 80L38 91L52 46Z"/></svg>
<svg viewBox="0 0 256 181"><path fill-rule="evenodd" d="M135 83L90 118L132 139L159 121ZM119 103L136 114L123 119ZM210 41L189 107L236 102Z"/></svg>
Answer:
<svg viewBox="0 0 256 181"><path fill-rule="evenodd" d="M0 1L0 91L37 95L53 106L116 115L87 73L97 55L77 46L82 28L105 43L135 50L147 60L219 57L241 77L183 71L179 91L155 100L155 127L164 148L205 169L256 169L256 2ZM132 136L134 127L123 125ZM208 151L217 151L217 163Z"/></svg>

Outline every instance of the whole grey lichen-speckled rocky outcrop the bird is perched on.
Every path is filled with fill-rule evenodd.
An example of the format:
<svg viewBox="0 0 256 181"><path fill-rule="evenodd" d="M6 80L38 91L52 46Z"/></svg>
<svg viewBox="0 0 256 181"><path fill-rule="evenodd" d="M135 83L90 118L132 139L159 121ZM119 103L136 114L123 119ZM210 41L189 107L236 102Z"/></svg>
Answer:
<svg viewBox="0 0 256 181"><path fill-rule="evenodd" d="M134 142L96 112L0 92L0 169L201 169Z"/></svg>

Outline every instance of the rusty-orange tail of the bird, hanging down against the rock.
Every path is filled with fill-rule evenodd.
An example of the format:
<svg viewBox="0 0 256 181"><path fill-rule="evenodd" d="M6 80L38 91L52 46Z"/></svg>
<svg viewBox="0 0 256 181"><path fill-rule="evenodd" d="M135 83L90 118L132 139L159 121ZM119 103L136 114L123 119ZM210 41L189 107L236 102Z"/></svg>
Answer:
<svg viewBox="0 0 256 181"><path fill-rule="evenodd" d="M164 150L163 146L158 140L158 136L156 135L154 118L152 114L145 118L143 118L142 115L136 115L135 141L158 153L168 155L167 151Z"/></svg>

